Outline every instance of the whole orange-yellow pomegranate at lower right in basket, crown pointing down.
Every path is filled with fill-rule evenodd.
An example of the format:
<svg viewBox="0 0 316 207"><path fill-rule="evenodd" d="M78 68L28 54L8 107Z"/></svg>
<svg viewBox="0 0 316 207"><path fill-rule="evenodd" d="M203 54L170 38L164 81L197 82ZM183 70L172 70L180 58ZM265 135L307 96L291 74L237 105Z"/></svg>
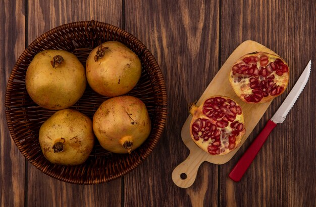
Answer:
<svg viewBox="0 0 316 207"><path fill-rule="evenodd" d="M100 145L113 153L131 153L150 133L145 104L133 96L104 101L93 116L93 131Z"/></svg>

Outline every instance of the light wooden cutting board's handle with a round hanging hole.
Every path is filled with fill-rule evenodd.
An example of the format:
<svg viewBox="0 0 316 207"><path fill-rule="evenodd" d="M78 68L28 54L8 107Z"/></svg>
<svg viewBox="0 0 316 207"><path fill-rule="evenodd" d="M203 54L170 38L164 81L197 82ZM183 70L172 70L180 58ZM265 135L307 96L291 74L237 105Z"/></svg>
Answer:
<svg viewBox="0 0 316 207"><path fill-rule="evenodd" d="M207 156L209 155L204 151L191 151L187 159L173 170L173 182L181 188L190 187L195 181L198 168Z"/></svg>

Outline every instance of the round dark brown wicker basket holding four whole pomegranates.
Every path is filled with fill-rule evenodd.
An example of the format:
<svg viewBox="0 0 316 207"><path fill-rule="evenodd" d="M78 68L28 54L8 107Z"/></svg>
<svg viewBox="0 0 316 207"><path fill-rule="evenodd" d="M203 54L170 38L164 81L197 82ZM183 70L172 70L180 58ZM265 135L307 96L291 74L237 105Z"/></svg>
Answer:
<svg viewBox="0 0 316 207"><path fill-rule="evenodd" d="M41 124L55 111L38 106L25 88L25 73L36 53L44 49L63 49L74 53L85 65L90 51L99 44L116 40L127 45L141 60L142 75L136 87L128 93L141 99L152 122L148 139L129 154L110 153L96 143L88 160L78 166L54 165L42 154L38 143ZM108 98L87 88L82 98L71 108L90 118ZM75 22L54 28L36 38L17 60L6 92L6 117L15 144L36 168L43 173L75 184L97 184L119 178L135 169L153 150L163 133L167 116L166 85L155 58L136 37L128 32L97 21Z"/></svg>

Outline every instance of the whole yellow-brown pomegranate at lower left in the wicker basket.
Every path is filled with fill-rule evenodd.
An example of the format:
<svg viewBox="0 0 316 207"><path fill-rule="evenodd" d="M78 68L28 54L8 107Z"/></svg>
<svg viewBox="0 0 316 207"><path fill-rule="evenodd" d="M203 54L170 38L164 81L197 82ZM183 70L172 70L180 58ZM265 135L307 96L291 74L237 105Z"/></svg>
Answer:
<svg viewBox="0 0 316 207"><path fill-rule="evenodd" d="M92 121L76 110L57 111L41 125L39 144L45 158L51 163L82 164L89 157L94 144Z"/></svg>

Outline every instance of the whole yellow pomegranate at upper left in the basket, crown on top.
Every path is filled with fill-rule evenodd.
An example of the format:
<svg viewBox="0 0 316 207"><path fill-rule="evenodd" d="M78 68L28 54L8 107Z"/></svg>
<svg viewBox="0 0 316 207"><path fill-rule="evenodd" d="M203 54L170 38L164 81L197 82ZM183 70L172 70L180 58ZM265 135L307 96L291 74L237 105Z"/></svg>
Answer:
<svg viewBox="0 0 316 207"><path fill-rule="evenodd" d="M31 99L43 108L60 110L74 105L86 88L86 75L78 58L64 50L44 50L26 71Z"/></svg>

